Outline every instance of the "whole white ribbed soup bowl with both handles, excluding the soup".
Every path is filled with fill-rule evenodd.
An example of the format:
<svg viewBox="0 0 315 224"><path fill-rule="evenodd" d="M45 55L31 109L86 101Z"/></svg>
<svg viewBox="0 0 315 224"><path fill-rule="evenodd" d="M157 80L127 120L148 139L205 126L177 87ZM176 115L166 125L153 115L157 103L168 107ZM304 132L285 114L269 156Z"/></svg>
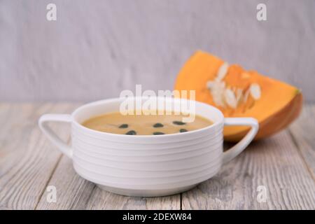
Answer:
<svg viewBox="0 0 315 224"><path fill-rule="evenodd" d="M191 118L197 115L213 124L183 133L133 136L99 132L82 125L85 120L105 113L125 114L125 107L123 111L121 108L126 100L128 105L131 103L139 109L148 99L150 104L158 103L155 108L160 111L167 108L169 112L186 115L185 123L192 122ZM128 111L134 111L134 107ZM71 146L49 128L51 121L71 123ZM84 179L111 193L137 197L174 195L210 179L223 163L244 151L259 127L254 118L224 118L214 106L177 97L100 100L80 106L71 115L45 114L38 125L50 141L73 160L74 169ZM223 125L248 125L251 130L223 153Z"/></svg>

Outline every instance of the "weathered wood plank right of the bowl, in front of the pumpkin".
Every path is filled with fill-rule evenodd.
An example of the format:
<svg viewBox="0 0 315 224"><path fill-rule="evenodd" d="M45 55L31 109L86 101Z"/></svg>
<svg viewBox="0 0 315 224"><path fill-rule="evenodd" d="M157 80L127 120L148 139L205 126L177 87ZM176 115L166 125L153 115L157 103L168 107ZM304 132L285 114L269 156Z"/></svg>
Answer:
<svg viewBox="0 0 315 224"><path fill-rule="evenodd" d="M258 202L258 186L267 190ZM183 193L183 209L315 209L315 183L290 134L258 141L213 179Z"/></svg>

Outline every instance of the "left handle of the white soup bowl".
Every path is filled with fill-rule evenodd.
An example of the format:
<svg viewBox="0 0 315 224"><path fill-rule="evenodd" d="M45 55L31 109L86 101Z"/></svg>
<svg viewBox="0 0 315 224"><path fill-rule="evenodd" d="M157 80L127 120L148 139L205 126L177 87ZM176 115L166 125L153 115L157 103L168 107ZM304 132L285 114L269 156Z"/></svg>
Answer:
<svg viewBox="0 0 315 224"><path fill-rule="evenodd" d="M57 121L57 122L66 122L71 123L72 117L69 114L44 114L39 118L38 125L43 131L43 133L50 139L52 144L58 147L59 151L64 153L66 156L72 159L72 149L68 144L66 144L62 139L60 139L55 132L53 132L48 126L48 122Z"/></svg>

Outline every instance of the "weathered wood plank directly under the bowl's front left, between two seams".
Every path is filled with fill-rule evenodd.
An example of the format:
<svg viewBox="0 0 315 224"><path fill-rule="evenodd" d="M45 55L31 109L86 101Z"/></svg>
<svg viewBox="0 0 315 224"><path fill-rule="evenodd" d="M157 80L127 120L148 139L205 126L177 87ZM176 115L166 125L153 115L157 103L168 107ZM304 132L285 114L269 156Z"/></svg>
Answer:
<svg viewBox="0 0 315 224"><path fill-rule="evenodd" d="M59 162L48 186L57 189L57 202L48 203L43 194L36 209L180 209L180 195L172 197L125 197L108 193L76 174L65 156Z"/></svg>

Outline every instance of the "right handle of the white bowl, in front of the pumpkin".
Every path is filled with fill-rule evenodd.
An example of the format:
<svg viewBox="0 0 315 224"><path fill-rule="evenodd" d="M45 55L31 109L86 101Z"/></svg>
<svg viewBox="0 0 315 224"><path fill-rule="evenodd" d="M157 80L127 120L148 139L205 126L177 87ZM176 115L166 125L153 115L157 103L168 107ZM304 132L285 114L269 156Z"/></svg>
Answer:
<svg viewBox="0 0 315 224"><path fill-rule="evenodd" d="M225 118L224 125L226 126L250 126L251 130L246 134L246 136L239 141L235 146L230 148L228 151L223 153L223 164L234 159L244 151L244 149L251 143L253 138L258 132L258 121L255 118Z"/></svg>

